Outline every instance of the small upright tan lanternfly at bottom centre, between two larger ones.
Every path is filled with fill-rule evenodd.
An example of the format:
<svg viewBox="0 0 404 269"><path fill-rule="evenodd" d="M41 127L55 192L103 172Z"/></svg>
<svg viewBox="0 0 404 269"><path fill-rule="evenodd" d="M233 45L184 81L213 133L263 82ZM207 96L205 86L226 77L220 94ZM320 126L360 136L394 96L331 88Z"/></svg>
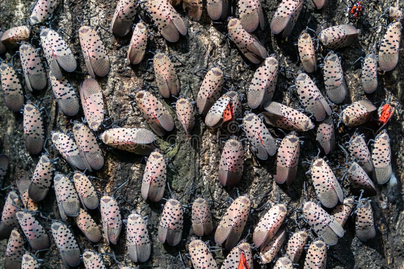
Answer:
<svg viewBox="0 0 404 269"><path fill-rule="evenodd" d="M208 202L202 198L196 198L192 203L192 230L197 236L204 236L212 233L213 224L211 210Z"/></svg>

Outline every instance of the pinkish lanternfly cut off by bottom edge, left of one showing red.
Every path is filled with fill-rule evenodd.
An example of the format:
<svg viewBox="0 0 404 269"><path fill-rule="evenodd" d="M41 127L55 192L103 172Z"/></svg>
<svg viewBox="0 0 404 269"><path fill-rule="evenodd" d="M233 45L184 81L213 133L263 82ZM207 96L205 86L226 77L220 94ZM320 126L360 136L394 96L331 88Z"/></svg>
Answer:
<svg viewBox="0 0 404 269"><path fill-rule="evenodd" d="M194 268L218 268L208 246L199 239L193 239L189 245L189 255Z"/></svg>

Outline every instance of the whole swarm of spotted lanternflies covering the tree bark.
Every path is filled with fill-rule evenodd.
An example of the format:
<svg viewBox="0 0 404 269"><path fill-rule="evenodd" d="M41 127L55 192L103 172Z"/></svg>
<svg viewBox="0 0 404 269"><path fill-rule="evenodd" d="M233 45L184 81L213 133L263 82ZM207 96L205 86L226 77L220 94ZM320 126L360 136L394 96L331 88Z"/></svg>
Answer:
<svg viewBox="0 0 404 269"><path fill-rule="evenodd" d="M118 198L112 194L99 198L92 182L94 177L88 173L104 166L104 152L100 144L148 156L142 177L141 197L147 203L165 200L158 226L158 241L169 246L180 244L183 241L186 205L175 195L164 198L169 162L165 152L155 147L157 137L164 138L174 129L175 119L160 98L147 90L139 90L131 96L131 104L140 111L149 129L118 127L116 124L107 126L103 90L97 79L107 76L111 66L96 29L83 25L78 30L88 71L88 77L81 83L79 97L65 77L77 69L76 57L69 42L49 27L42 26L39 32L32 30L36 24L44 25L58 4L58 0L39 0L32 9L29 26L13 27L0 34L0 53L18 50L21 72L30 92L42 91L50 84L60 111L66 117L72 117L82 107L85 119L83 122L72 121L69 132L54 130L46 138L43 109L32 101L25 101L18 70L8 61L0 65L4 103L12 112L22 111L26 150L32 156L40 155L31 178L18 179L17 189L12 187L3 206L0 237L8 238L4 267L39 268L41 261L35 252L51 246L51 234L62 260L68 266L75 267L83 262L86 268L105 268L102 254L92 249L80 249L75 235L66 224L71 218L86 239L94 244L103 238L106 245L121 244L119 236L122 224L125 224L127 258L123 262L118 261L116 256L113 258L121 268L129 268L150 259L152 242L147 220L141 212L132 212L123 220ZM168 0L146 0L142 3L136 0L119 1L110 30L116 36L125 36L133 26L127 51L129 63L139 64L144 60L149 41L150 26L144 22L133 25L136 11L144 8L161 36L168 42L177 42L187 34L187 26L175 9L177 4ZM327 6L327 1L312 0L312 4L315 9L321 10ZM201 19L202 1L184 0L182 5L190 19ZM303 6L303 0L282 0L270 22L271 32L281 38L290 36ZM364 6L358 1L348 10L355 19L359 19ZM229 2L208 0L207 12L212 20L224 20L231 13ZM361 82L367 94L378 89L378 72L391 71L398 62L402 12L389 7L385 14L390 23L377 46L378 51L370 51L362 59ZM222 95L226 76L225 69L218 66L207 71L193 102L185 95L180 95L180 81L169 55L157 52L153 58L156 84L163 98L174 96L177 99L175 114L187 137L192 135L196 124L194 105L207 128L225 128L234 122L241 123L244 138L241 140L237 137L240 129L232 131L227 128L234 136L225 142L219 167L214 168L218 170L218 179L223 187L237 186L242 180L245 144L258 160L265 161L270 156L276 158L273 179L277 184L292 184L298 172L302 142L297 133L314 130L319 155L310 162L307 174L311 176L317 199L306 200L302 205L302 219L307 228L298 225L299 230L289 235L283 222L287 212L293 209L278 201L278 204L265 208L266 212L253 227L252 235L248 233L241 240L248 216L256 210L251 207L254 198L248 195L235 197L216 226L209 200L203 196L195 198L190 206L195 237L187 242L188 265L192 264L194 268L218 268L212 254L215 246L210 240L202 240L213 233L216 244L229 250L221 264L223 269L252 269L256 257L260 264L273 264L274 268L293 268L298 263L304 264L305 268L325 268L327 247L337 244L338 239L344 236L343 227L351 215L355 215L355 235L360 240L375 237L370 200L377 193L375 183L383 185L390 181L392 184L396 180L391 166L390 139L385 128L396 109L395 102L387 100L377 107L368 100L359 100L341 106L338 122L332 118L336 114L335 104L342 104L347 99L348 88L341 59L331 49L352 45L357 41L360 30L353 24L340 24L322 29L316 38L311 36L309 29L299 35L298 56L304 72L293 75L293 87L304 109L295 109L273 101L278 74L283 66L277 55L269 54L259 38L251 34L259 27L264 29L265 24L260 0L239 0L238 18L230 18L227 22L228 35L245 61L257 64L254 77L245 91L250 111L243 113L243 96L234 89ZM28 42L33 36L40 41L39 49ZM319 69L316 47L320 45L327 51L320 64L326 95L310 75ZM46 59L46 68L39 50ZM365 135L358 131L345 144L344 141L336 141L335 124L343 124L347 128L370 126L375 133L372 150L368 148ZM277 141L274 131L268 126L290 132ZM59 153L60 160L49 155L46 150L48 141ZM243 144L244 141L247 143ZM345 173L339 180L329 163L319 157L320 153L327 156L338 150L336 145L346 153ZM62 173L62 169L59 169L61 162L65 162L74 172L71 175ZM9 163L7 155L0 155L0 181L8 172ZM349 183L352 193L356 195L346 195L341 183L343 180ZM52 220L51 226L46 229L43 224L46 217L38 211L38 203L45 200L52 185L60 219ZM89 214L95 209L100 211L102 229L91 216L93 214ZM304 252L306 258L300 261Z"/></svg>

